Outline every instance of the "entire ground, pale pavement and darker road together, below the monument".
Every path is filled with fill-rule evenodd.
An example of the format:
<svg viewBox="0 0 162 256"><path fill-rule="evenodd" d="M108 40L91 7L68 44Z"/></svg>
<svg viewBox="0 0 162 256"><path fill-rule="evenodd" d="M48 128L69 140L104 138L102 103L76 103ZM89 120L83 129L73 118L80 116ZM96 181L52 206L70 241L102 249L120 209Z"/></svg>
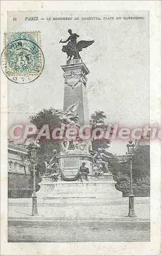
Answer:
<svg viewBox="0 0 162 256"><path fill-rule="evenodd" d="M9 199L8 242L150 241L150 199L135 198L136 218L129 218L128 198L108 205L38 205L31 199Z"/></svg>

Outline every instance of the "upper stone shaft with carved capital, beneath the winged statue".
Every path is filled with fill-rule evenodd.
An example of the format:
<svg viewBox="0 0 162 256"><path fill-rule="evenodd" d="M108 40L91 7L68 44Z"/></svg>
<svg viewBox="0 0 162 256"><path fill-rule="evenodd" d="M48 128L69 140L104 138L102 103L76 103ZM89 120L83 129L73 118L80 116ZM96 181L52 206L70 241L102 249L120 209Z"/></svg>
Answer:
<svg viewBox="0 0 162 256"><path fill-rule="evenodd" d="M73 104L77 104L76 112L79 115L79 125L89 124L89 110L86 93L86 75L88 68L81 59L67 60L61 66L65 74L63 110L66 111Z"/></svg>

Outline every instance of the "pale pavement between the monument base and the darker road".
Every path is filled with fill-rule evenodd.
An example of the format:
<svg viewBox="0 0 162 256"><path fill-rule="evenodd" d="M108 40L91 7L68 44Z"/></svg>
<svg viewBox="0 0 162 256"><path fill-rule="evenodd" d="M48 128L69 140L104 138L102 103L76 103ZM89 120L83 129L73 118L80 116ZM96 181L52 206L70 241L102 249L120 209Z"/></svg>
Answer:
<svg viewBox="0 0 162 256"><path fill-rule="evenodd" d="M56 206L38 205L39 218L81 218L81 219L128 219L128 198L122 198L108 205L78 205L78 206ZM134 209L137 219L150 219L150 199L135 198ZM10 199L8 204L8 217L12 220L26 218L33 219L31 199Z"/></svg>

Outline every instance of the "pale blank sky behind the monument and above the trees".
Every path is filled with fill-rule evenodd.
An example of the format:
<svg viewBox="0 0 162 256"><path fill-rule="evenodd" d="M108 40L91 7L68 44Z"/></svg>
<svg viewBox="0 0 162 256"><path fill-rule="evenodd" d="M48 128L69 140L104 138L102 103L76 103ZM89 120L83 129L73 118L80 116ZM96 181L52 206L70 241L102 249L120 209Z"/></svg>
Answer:
<svg viewBox="0 0 162 256"><path fill-rule="evenodd" d="M121 16L119 20L117 17ZM144 19L124 19L124 17ZM17 17L13 22L13 17ZM38 20L25 20L38 17ZM47 18L51 20L47 20ZM53 20L53 17L73 17ZM79 20L74 20L79 17ZM82 17L100 17L84 20ZM114 17L114 19L104 19ZM44 18L43 20L40 18ZM45 65L38 79L27 84L8 81L8 124L26 122L42 109L63 108L64 78L61 65L66 54L61 51L69 36L94 40L83 49L81 58L87 75L89 115L103 110L107 123L141 126L149 122L149 20L147 11L102 12L8 12L8 32L40 31ZM113 141L110 152L125 154L126 142Z"/></svg>

